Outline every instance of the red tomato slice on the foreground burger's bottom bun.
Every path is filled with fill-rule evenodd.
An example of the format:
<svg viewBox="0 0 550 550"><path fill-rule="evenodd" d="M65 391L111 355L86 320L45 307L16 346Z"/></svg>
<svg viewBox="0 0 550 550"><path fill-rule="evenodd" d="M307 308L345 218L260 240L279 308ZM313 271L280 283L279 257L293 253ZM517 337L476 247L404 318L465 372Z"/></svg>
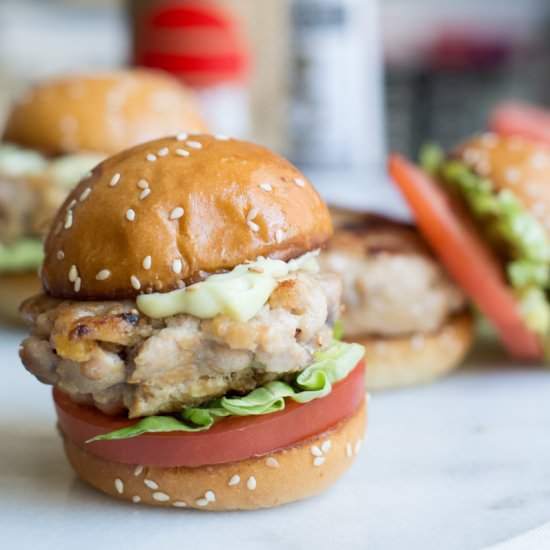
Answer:
<svg viewBox="0 0 550 550"><path fill-rule="evenodd" d="M196 467L245 460L327 431L361 406L365 399L364 371L360 362L326 397L303 405L288 400L278 413L225 418L205 432L143 434L89 444L88 439L133 421L78 405L58 389L54 389L53 397L63 434L93 454L125 464Z"/></svg>

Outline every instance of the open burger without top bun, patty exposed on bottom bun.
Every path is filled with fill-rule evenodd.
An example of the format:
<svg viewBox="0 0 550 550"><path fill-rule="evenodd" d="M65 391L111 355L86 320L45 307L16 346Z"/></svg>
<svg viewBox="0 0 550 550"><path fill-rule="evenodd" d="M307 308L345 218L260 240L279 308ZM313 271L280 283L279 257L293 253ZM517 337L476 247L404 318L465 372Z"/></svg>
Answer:
<svg viewBox="0 0 550 550"><path fill-rule="evenodd" d="M410 226L337 212L321 266L343 280L342 330L365 345L368 389L428 382L456 368L472 321L461 290Z"/></svg>

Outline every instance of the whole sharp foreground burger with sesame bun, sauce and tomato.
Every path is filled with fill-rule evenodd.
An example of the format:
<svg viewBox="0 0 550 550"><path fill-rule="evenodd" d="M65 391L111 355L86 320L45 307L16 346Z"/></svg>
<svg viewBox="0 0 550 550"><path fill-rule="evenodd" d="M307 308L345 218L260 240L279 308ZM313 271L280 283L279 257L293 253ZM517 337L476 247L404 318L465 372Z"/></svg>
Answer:
<svg viewBox="0 0 550 550"><path fill-rule="evenodd" d="M71 223L67 223L70 220ZM319 493L365 428L363 348L336 340L341 283L306 178L268 150L186 135L82 180L22 311L69 461L135 503L234 510Z"/></svg>

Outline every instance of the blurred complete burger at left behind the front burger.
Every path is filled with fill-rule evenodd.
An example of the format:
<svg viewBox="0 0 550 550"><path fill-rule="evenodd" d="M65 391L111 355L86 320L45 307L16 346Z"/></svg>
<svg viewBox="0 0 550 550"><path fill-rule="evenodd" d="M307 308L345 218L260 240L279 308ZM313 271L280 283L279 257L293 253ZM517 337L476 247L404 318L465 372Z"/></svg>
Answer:
<svg viewBox="0 0 550 550"><path fill-rule="evenodd" d="M190 93L153 71L67 76L25 93L0 144L0 317L18 320L39 291L41 238L86 172L137 143L204 129Z"/></svg>

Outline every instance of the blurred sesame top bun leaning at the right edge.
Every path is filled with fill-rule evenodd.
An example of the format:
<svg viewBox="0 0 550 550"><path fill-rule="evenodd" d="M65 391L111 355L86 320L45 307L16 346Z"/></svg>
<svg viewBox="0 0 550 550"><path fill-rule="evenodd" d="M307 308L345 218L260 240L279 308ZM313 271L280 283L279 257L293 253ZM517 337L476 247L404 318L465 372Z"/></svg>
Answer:
<svg viewBox="0 0 550 550"><path fill-rule="evenodd" d="M454 155L496 190L509 189L550 230L550 148L519 136L484 133L457 148Z"/></svg>

